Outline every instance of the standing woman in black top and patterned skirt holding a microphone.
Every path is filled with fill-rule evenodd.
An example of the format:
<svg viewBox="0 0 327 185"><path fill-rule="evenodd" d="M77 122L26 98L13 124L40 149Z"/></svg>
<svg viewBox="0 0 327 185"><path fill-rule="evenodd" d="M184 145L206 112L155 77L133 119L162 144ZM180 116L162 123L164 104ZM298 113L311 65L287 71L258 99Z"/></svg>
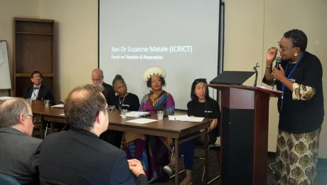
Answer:
<svg viewBox="0 0 327 185"><path fill-rule="evenodd" d="M276 183L314 184L323 123L323 70L306 52L306 34L291 30L279 42L282 63L272 68L277 48L269 48L263 82L284 92L278 99Z"/></svg>

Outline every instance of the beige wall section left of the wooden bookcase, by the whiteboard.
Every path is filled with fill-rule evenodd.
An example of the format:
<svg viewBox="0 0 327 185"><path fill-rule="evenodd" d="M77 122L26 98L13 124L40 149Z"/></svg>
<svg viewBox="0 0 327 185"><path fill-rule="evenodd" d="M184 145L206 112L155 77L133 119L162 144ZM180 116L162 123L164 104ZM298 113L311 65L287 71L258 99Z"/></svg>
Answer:
<svg viewBox="0 0 327 185"><path fill-rule="evenodd" d="M0 40L6 40L8 46L11 87L13 79L13 19L14 17L38 18L38 0L0 0ZM7 96L8 90L0 90L0 96ZM14 91L11 91L14 95Z"/></svg>

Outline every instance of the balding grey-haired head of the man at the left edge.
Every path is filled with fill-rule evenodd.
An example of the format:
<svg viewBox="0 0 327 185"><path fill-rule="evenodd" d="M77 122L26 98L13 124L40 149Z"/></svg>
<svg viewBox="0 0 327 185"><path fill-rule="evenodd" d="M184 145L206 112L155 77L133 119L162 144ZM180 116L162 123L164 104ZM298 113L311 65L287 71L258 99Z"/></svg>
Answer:
<svg viewBox="0 0 327 185"><path fill-rule="evenodd" d="M31 107L22 98L6 100L0 105L0 112L0 127L17 125L20 115L26 118L32 114Z"/></svg>

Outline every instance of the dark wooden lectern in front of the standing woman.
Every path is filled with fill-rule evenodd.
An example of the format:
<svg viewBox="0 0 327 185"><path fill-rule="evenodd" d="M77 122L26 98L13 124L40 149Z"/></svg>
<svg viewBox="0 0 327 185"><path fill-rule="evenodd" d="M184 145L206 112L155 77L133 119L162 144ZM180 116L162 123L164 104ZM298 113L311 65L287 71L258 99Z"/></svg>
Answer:
<svg viewBox="0 0 327 185"><path fill-rule="evenodd" d="M220 184L267 184L269 97L279 92L210 84L221 92Z"/></svg>

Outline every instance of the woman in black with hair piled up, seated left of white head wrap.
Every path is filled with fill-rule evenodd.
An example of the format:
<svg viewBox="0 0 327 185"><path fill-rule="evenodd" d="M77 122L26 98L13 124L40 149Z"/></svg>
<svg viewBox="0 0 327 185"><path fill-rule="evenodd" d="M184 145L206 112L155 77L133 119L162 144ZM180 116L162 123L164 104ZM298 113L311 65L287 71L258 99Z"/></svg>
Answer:
<svg viewBox="0 0 327 185"><path fill-rule="evenodd" d="M108 105L112 105L119 110L139 110L139 97L127 92L127 85L121 75L114 77L112 85L114 86L114 91L109 92ZM123 132L121 131L108 129L100 135L100 139L120 148L122 135Z"/></svg>

